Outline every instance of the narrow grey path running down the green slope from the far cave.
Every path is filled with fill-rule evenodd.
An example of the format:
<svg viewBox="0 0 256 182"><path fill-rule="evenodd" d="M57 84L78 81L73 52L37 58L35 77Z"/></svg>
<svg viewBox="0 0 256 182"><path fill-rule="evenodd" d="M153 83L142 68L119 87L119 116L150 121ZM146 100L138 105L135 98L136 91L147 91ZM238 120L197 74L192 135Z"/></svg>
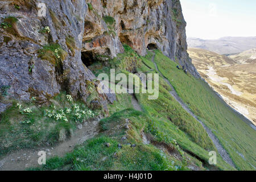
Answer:
<svg viewBox="0 0 256 182"><path fill-rule="evenodd" d="M164 77L163 74L159 71L158 65L156 65L156 63L155 63L155 54L152 56L152 63L154 63L155 69L156 69L156 71L158 71L159 75L162 76L164 78L164 81L166 81L167 84L171 87L172 90L170 91L170 94L172 95L172 97L174 97L175 100L177 102L179 102L179 104L183 107L183 109L186 110L190 115L192 115L192 117L195 118L204 127L204 129L205 129L205 131L207 131L207 134L209 135L210 139L212 139L214 145L216 146L218 153L221 155L222 159L224 159L225 162L230 164L230 166L236 168L234 166L234 163L233 163L232 159L230 158L228 152L221 146L218 138L212 133L212 131L199 118L196 117L196 115L189 109L189 107L181 100L181 98L175 91L175 89L172 86L172 84L170 83L170 81L167 80L167 78Z"/></svg>

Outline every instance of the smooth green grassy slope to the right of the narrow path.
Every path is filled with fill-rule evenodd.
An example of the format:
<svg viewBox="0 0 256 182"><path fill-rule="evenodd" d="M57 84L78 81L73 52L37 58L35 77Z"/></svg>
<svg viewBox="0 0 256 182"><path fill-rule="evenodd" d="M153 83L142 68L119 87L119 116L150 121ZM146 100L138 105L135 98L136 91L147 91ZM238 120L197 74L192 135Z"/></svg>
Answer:
<svg viewBox="0 0 256 182"><path fill-rule="evenodd" d="M160 51L156 51L155 62L183 101L218 137L237 168L254 170L256 132L226 107L207 83L176 69L176 63Z"/></svg>

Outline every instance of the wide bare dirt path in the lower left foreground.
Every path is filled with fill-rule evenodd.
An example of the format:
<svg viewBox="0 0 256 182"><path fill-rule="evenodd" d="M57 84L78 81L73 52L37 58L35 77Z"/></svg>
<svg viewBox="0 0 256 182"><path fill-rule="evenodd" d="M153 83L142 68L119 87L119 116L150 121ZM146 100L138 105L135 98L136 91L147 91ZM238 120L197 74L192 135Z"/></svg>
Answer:
<svg viewBox="0 0 256 182"><path fill-rule="evenodd" d="M100 132L100 118L85 122L79 125L79 129L73 133L73 136L55 147L42 147L34 150L19 150L8 154L5 158L0 159L0 171L23 171L26 168L38 167L39 151L46 151L46 158L53 156L64 156L72 152L77 144L93 138Z"/></svg>

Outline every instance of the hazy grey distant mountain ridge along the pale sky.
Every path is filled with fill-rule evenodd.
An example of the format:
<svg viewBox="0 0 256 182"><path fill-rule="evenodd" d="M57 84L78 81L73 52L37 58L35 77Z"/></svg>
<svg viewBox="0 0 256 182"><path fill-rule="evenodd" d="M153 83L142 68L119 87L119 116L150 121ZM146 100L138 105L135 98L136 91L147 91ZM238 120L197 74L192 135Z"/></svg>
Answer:
<svg viewBox="0 0 256 182"><path fill-rule="evenodd" d="M201 48L218 54L234 54L256 48L256 36L224 37L217 40L187 38L189 48Z"/></svg>

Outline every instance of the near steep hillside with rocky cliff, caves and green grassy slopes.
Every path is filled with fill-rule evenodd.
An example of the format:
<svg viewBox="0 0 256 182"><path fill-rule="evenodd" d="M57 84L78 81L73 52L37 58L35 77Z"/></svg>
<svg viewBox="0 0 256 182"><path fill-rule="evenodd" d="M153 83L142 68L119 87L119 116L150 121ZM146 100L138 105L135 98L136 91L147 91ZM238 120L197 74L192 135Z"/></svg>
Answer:
<svg viewBox="0 0 256 182"><path fill-rule="evenodd" d="M201 80L179 0L6 0L0 22L1 170L255 170L256 131Z"/></svg>

